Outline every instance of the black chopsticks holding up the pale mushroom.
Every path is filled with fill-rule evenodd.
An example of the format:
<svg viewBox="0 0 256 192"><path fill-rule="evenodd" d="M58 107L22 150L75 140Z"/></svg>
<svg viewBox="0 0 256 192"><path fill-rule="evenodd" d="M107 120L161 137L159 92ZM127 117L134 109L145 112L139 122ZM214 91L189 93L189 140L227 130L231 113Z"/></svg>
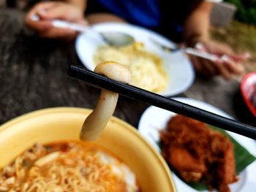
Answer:
<svg viewBox="0 0 256 192"><path fill-rule="evenodd" d="M70 77L75 77L76 79L82 80L94 87L105 88L123 96L143 101L147 104L185 115L189 118L200 120L204 123L217 126L227 131L232 131L236 134L244 135L245 137L256 139L256 128L253 126L249 126L236 120L216 115L206 110L201 110L197 107L192 107L189 104L184 104L180 101L176 101L174 99L170 99L168 97L161 96L159 94L152 93L132 85L127 85L115 80L111 80L108 77L91 72L80 66L69 66L68 74Z"/></svg>

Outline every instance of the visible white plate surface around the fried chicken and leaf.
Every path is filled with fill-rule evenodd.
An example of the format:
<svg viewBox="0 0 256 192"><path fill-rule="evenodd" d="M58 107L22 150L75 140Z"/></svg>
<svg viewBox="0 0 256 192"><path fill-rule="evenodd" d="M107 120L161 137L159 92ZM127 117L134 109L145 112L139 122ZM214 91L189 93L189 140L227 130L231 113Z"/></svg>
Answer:
<svg viewBox="0 0 256 192"><path fill-rule="evenodd" d="M217 107L211 106L210 104L206 104L202 101L197 101L195 99L187 99L187 98L173 98L177 101L184 102L186 104L190 104L195 107L199 107L203 110L208 110L217 115L222 115L226 118L231 118L230 115L219 110ZM176 115L173 112L162 110L158 107L148 107L143 115L140 118L138 130L140 134L143 135L148 142L151 143L158 151L159 147L157 146L157 141L159 141L159 130L165 128L167 120ZM243 145L247 150L249 150L252 155L256 155L256 142L253 139L249 139L247 137L234 134L230 131L227 131L236 141L238 141L241 145ZM189 185L180 180L176 174L173 173L174 183L176 184L177 191L186 191L186 192L195 192L194 188L191 188ZM254 191L256 188L256 161L246 167L244 172L239 174L239 180L236 183L230 185L230 190L232 192L249 192Z"/></svg>

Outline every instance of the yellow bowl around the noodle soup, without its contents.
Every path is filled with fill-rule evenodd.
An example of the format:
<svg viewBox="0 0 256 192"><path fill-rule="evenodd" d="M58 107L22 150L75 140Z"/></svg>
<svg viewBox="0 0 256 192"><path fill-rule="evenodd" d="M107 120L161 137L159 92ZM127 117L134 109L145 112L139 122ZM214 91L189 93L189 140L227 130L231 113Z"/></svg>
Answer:
<svg viewBox="0 0 256 192"><path fill-rule="evenodd" d="M57 107L38 110L0 126L0 167L9 164L35 142L78 139L91 110ZM142 191L176 191L162 156L132 126L111 118L98 145L118 155L135 172Z"/></svg>

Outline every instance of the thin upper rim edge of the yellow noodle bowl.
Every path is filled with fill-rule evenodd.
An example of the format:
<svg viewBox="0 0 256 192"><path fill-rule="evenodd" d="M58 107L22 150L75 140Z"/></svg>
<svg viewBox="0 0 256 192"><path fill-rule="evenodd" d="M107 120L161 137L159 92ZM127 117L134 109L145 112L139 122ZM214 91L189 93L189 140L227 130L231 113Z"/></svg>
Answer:
<svg viewBox="0 0 256 192"><path fill-rule="evenodd" d="M56 113L61 113L61 112L75 112L75 113L83 113L83 114L89 114L91 113L92 110L82 108L82 107L50 107L50 108L45 108L41 110L35 110L32 112L28 112L26 114L20 115L16 118L13 118L12 120L8 120L6 123L3 123L0 125L0 134L6 131L8 128L12 128L12 126L17 125L18 123L21 123L23 121L29 120L31 118L36 118L40 115L50 115L56 114ZM143 142L144 145L148 147L148 150L152 154L153 158L155 158L155 161L159 162L162 166L162 172L164 172L165 177L169 178L169 185L170 185L170 190L173 190L176 192L176 185L173 181L173 177L171 175L170 169L167 166L167 163L165 162L164 158L162 158L162 155L160 155L157 150L154 149L151 144L143 138L143 136L138 132L138 130L130 125L129 123L125 122L124 120L121 120L119 118L116 118L114 116L111 117L110 119L114 123L119 124L120 126L124 126L134 137L137 137L140 142Z"/></svg>

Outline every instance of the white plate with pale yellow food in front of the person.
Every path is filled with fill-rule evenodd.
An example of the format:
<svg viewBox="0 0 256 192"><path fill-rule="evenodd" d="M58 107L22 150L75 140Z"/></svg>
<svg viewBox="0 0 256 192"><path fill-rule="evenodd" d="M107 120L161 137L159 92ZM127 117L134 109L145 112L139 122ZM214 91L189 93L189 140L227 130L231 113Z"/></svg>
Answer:
<svg viewBox="0 0 256 192"><path fill-rule="evenodd" d="M130 34L135 38L135 43L128 47L110 47L97 33L90 31L80 34L75 50L87 69L93 71L101 61L117 61L127 66L132 73L132 85L163 96L182 93L192 85L195 72L187 55L181 51L167 53L151 40L173 47L173 43L165 37L126 23L100 23L92 28L100 32L120 31Z"/></svg>

